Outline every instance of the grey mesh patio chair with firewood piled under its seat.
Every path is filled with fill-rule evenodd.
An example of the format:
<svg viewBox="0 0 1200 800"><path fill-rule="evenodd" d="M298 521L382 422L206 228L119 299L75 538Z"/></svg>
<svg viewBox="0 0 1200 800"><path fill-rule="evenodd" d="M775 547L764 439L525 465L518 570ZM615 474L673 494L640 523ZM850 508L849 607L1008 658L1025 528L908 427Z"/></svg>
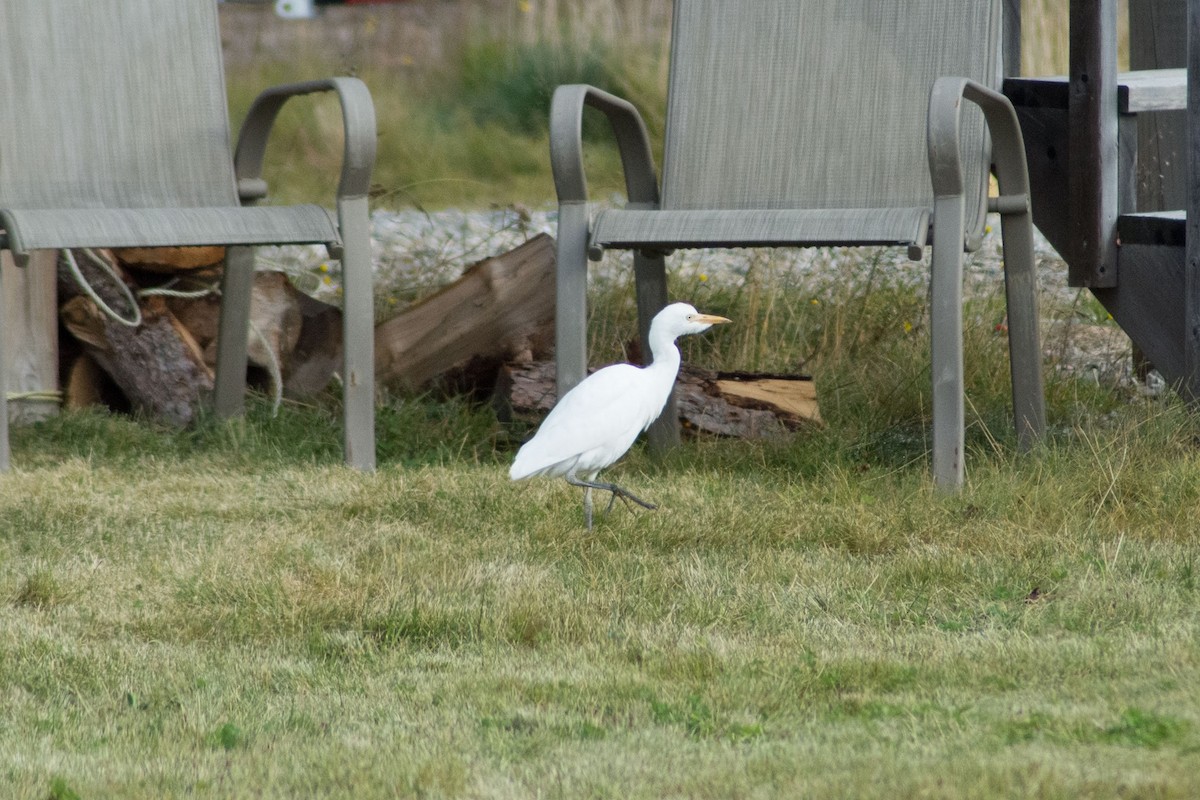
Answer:
<svg viewBox="0 0 1200 800"><path fill-rule="evenodd" d="M24 265L40 248L228 246L214 404L232 416L245 403L254 246L325 245L344 276L346 462L373 469L371 95L354 78L270 89L230 152L217 22L214 0L0 4L0 249ZM336 217L319 205L254 205L280 108L326 91L344 127ZM0 469L4 404L0 391Z"/></svg>

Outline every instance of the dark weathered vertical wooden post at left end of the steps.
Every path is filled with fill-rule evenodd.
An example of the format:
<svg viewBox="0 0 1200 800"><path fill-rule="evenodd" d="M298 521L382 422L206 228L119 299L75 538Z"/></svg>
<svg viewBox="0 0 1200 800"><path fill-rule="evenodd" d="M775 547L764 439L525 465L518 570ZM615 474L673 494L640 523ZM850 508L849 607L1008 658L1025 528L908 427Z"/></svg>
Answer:
<svg viewBox="0 0 1200 800"><path fill-rule="evenodd" d="M1068 120L1073 285L1117 282L1116 0L1070 4Z"/></svg>

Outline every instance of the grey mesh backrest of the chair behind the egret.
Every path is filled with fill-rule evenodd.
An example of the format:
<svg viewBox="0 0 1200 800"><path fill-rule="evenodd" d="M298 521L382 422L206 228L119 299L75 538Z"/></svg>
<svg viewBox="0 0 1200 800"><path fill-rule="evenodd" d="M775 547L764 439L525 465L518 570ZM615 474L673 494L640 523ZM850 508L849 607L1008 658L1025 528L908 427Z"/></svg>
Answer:
<svg viewBox="0 0 1200 800"><path fill-rule="evenodd" d="M929 207L941 76L998 86L996 0L677 0L664 209ZM967 228L989 149L964 109Z"/></svg>

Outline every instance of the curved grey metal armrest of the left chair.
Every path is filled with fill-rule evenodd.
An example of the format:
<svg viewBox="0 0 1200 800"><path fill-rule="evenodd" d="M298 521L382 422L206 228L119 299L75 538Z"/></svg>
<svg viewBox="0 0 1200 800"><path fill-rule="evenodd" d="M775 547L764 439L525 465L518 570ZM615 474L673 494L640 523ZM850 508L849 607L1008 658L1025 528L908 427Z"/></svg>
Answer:
<svg viewBox="0 0 1200 800"><path fill-rule="evenodd" d="M376 116L371 92L358 78L325 78L272 86L260 94L246 113L234 151L234 174L242 201L253 203L266 194L263 157L266 139L280 109L292 97L332 91L342 104L346 144L342 151L342 175L338 198L366 197L376 157Z"/></svg>

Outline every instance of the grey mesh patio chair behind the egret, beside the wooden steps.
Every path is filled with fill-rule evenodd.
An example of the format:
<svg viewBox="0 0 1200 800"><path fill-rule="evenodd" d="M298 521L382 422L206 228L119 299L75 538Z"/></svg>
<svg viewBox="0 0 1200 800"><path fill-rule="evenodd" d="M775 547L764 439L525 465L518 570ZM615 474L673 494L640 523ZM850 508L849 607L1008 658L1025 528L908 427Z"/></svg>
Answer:
<svg viewBox="0 0 1200 800"><path fill-rule="evenodd" d="M931 243L932 473L959 486L962 254L979 247L990 207L1003 215L1014 420L1028 447L1045 413L1025 152L995 91L1001 14L998 0L676 0L661 192L638 112L593 86L559 86L559 396L587 369L589 255L635 251L644 339L676 248L899 245L919 260ZM611 124L624 207L588 205L584 107ZM1001 194L989 203L992 160ZM678 440L670 404L650 434L660 447Z"/></svg>

